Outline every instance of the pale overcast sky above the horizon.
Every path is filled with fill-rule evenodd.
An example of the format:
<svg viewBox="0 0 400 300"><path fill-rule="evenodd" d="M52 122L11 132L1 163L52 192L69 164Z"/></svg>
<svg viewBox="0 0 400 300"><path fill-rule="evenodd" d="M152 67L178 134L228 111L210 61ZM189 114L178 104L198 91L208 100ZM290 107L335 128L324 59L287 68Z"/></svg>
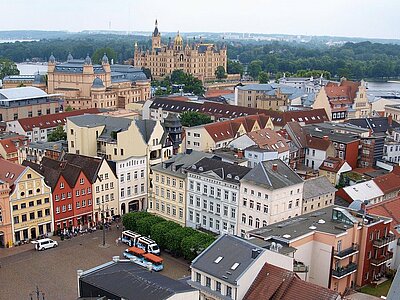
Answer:
<svg viewBox="0 0 400 300"><path fill-rule="evenodd" d="M0 30L254 32L400 38L400 0L0 0Z"/></svg>

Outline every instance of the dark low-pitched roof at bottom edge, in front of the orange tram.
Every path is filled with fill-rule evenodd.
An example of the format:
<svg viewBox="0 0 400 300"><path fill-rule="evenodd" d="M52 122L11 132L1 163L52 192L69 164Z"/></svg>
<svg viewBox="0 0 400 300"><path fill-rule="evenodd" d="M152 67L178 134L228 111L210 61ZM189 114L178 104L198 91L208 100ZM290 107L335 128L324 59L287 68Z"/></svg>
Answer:
<svg viewBox="0 0 400 300"><path fill-rule="evenodd" d="M101 265L84 272L79 280L128 300L169 299L175 294L195 291L182 281L150 272L130 261Z"/></svg>

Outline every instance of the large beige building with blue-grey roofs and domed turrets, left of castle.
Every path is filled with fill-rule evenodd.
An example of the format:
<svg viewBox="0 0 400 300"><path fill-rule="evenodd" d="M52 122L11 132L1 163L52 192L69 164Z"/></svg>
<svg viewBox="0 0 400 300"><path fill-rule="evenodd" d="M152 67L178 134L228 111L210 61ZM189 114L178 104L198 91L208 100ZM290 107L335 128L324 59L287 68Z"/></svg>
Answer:
<svg viewBox="0 0 400 300"><path fill-rule="evenodd" d="M131 65L110 65L104 54L101 64L68 55L65 63L48 62L48 92L65 95L65 107L125 108L150 98L150 81Z"/></svg>

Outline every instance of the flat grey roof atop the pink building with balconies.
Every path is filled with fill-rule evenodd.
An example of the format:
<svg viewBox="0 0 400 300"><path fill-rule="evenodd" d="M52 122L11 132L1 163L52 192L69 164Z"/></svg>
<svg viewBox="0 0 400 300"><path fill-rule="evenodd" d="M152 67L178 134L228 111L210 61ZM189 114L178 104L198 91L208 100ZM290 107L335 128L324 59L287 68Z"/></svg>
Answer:
<svg viewBox="0 0 400 300"><path fill-rule="evenodd" d="M333 211L340 212L342 218L334 220L332 218ZM295 216L290 219L280 221L266 227L249 231L249 235L262 238L265 241L278 239L281 243L290 243L300 237L315 233L325 232L333 235L341 235L348 230L349 223L359 223L363 218L363 214L349 210L340 206L327 206L317 211ZM374 215L366 215L367 224L375 224L377 222L387 221L388 218Z"/></svg>

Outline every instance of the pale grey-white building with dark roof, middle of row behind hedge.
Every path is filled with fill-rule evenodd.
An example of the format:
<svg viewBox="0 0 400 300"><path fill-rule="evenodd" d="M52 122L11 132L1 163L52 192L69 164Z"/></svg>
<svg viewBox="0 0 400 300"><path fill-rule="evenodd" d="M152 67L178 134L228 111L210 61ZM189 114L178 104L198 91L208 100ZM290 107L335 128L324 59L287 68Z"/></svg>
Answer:
<svg viewBox="0 0 400 300"><path fill-rule="evenodd" d="M237 234L239 180L247 167L203 158L188 169L186 226Z"/></svg>

